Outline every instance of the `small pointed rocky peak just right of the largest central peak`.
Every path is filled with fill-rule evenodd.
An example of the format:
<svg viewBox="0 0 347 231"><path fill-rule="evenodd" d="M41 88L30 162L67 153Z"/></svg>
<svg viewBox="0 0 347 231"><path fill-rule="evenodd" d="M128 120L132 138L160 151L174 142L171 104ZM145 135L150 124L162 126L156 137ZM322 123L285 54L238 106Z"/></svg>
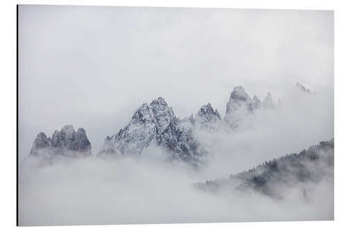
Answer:
<svg viewBox="0 0 347 231"><path fill-rule="evenodd" d="M218 121L221 121L221 115L210 103L203 105L194 118L194 124L200 128L213 128Z"/></svg>

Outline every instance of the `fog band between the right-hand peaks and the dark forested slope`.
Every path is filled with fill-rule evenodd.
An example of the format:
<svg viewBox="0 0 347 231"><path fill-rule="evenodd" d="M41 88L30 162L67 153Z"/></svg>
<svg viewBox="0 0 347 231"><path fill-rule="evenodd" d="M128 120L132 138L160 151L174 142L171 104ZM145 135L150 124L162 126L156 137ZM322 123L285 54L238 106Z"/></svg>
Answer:
<svg viewBox="0 0 347 231"><path fill-rule="evenodd" d="M333 92L325 89L305 94L294 86L282 92L282 103L273 110L257 110L236 129L215 132L196 130L196 136L210 147L209 170L223 177L251 169L265 160L297 153L334 137Z"/></svg>

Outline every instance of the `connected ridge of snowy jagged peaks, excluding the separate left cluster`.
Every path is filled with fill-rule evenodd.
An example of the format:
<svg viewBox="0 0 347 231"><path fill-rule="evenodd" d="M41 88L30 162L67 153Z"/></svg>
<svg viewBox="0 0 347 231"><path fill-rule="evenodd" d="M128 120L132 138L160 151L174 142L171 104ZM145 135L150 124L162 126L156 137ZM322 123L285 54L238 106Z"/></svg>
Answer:
<svg viewBox="0 0 347 231"><path fill-rule="evenodd" d="M221 119L218 110L210 103L190 117L180 119L167 102L159 97L150 104L143 103L133 114L129 123L112 136L105 138L99 156L141 155L150 146L169 151L171 157L186 162L201 162L207 148L194 137L194 129L214 130L217 123L228 123L231 128L254 110L272 108L271 94L262 103L257 96L253 100L244 87L237 86L230 94L226 105L226 117Z"/></svg>

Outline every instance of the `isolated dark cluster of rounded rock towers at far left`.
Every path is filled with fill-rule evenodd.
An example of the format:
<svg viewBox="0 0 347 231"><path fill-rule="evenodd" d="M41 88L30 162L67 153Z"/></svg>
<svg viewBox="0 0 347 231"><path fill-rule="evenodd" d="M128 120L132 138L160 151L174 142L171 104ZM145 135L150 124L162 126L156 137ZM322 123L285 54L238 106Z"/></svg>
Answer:
<svg viewBox="0 0 347 231"><path fill-rule="evenodd" d="M40 132L33 142L30 155L64 155L78 157L91 155L91 144L83 128L77 132L71 125L64 126L60 131L55 130L52 137L46 137Z"/></svg>

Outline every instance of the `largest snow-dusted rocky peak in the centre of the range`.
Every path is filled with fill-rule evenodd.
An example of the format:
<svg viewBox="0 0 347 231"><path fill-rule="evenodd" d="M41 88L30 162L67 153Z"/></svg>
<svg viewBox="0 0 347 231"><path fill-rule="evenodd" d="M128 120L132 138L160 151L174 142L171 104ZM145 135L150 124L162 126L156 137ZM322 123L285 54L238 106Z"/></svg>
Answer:
<svg viewBox="0 0 347 231"><path fill-rule="evenodd" d="M171 157L186 162L199 162L204 155L191 121L178 119L162 97L142 104L127 126L105 138L98 155L140 155L149 146L164 148Z"/></svg>

